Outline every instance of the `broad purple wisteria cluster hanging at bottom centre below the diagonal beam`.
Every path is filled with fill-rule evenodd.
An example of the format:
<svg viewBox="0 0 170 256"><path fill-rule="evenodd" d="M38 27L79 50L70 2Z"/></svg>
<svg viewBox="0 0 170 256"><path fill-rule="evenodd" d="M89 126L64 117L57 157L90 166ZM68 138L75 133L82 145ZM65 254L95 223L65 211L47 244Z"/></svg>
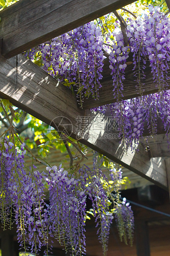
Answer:
<svg viewBox="0 0 170 256"><path fill-rule="evenodd" d="M54 237L71 255L85 253L86 195L80 187L80 179L68 175L61 166L47 167L49 185L50 223Z"/></svg>

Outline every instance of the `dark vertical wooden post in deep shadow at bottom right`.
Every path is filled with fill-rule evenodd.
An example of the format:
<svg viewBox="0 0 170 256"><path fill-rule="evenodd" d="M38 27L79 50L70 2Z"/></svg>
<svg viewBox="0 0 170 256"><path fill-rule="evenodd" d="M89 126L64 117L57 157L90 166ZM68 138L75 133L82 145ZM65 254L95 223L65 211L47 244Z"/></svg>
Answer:
<svg viewBox="0 0 170 256"><path fill-rule="evenodd" d="M136 219L135 236L137 256L150 256L149 232L146 221Z"/></svg>

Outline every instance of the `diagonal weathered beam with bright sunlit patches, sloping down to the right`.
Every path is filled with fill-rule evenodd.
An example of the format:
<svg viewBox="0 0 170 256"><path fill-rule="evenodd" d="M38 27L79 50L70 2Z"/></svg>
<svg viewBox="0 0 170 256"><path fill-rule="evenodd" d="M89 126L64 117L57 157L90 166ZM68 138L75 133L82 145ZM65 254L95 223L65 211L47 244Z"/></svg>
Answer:
<svg viewBox="0 0 170 256"><path fill-rule="evenodd" d="M68 88L23 55L18 55L17 69L16 57L5 59L0 56L0 97L9 99L36 118L64 130L74 139L79 138L88 147L168 189L163 159L150 159L141 145L135 153L130 149L126 152L118 139L118 129L113 131L113 119L78 109L76 97Z"/></svg>

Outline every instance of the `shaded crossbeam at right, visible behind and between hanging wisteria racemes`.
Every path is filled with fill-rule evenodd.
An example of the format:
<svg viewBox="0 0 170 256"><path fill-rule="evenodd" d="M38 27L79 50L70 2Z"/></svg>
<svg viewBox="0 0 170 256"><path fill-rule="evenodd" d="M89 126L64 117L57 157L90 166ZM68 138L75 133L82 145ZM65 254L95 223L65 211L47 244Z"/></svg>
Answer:
<svg viewBox="0 0 170 256"><path fill-rule="evenodd" d="M127 59L127 62L130 62L131 59ZM144 92L142 95L148 95L151 93L158 92L158 87L156 87L156 83L153 83L153 74L151 73L151 68L149 67L149 61L146 62L146 69L144 71L146 78L141 81L144 82L142 85L142 90ZM88 99L84 99L83 109L90 109L93 107L98 107L106 104L110 104L116 102L118 97L113 96L113 79L111 76L111 69L109 68L109 59L104 60L104 67L102 72L102 80L101 85L102 88L99 88L99 100L94 100L91 96ZM170 63L169 63L170 66ZM132 71L133 64L128 64L125 69L125 80L123 82L123 97L120 95L120 99L127 100L135 97L139 97L141 95L139 86L136 87L136 78L134 78L134 74ZM168 70L168 77L170 77L170 69ZM168 86L167 89L170 89L170 79L167 80Z"/></svg>

